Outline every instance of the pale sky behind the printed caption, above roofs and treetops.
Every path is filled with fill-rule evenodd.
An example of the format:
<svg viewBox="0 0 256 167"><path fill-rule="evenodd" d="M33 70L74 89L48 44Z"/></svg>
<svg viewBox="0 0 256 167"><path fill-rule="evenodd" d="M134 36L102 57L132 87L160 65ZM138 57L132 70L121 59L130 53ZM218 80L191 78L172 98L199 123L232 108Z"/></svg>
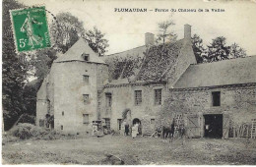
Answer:
<svg viewBox="0 0 256 167"><path fill-rule="evenodd" d="M53 15L69 12L83 21L84 27L96 26L108 39L106 54L121 52L145 44L145 33L159 33L158 23L171 16L175 9L171 28L183 38L184 25L192 26L192 34L197 33L209 44L217 36L226 37L227 44L233 42L243 47L247 55L256 55L256 1L87 1L87 0L19 0L28 6L45 6ZM146 13L114 12L115 8L147 8ZM156 12L168 9L168 12ZM197 12L179 12L179 9L195 9ZM210 12L198 12L209 9ZM212 12L223 9L224 12ZM153 10L153 11L150 11ZM52 20L51 16L47 18Z"/></svg>

